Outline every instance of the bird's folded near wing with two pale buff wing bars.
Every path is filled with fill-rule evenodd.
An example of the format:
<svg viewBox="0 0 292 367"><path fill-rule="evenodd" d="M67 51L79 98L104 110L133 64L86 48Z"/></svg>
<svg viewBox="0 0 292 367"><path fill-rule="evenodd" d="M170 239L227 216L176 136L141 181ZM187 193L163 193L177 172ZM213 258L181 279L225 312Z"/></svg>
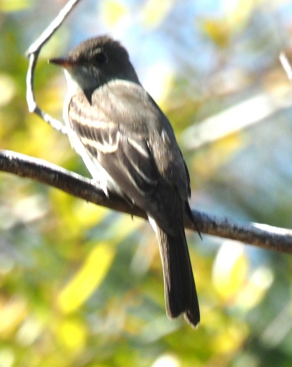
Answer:
<svg viewBox="0 0 292 367"><path fill-rule="evenodd" d="M140 196L154 192L159 172L143 134L134 139L125 130L121 132L119 123L81 94L71 98L69 110L70 127L118 185Z"/></svg>

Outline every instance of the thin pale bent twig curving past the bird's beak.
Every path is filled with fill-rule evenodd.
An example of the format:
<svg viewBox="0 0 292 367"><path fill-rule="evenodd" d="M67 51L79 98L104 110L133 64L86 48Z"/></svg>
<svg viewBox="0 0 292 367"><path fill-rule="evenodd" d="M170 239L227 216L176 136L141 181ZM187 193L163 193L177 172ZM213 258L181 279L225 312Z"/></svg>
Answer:
<svg viewBox="0 0 292 367"><path fill-rule="evenodd" d="M45 113L43 110L35 102L34 97L34 71L35 65L37 64L38 55L40 54L42 46L52 37L52 35L56 32L56 30L60 27L60 25L67 18L72 9L78 4L80 0L69 0L64 8L59 12L57 17L50 23L48 28L42 32L41 36L31 44L29 49L26 51L26 56L29 57L29 67L27 69L26 75L26 100L29 106L29 111L34 112L38 116L40 116L43 120L49 123L53 128L62 132L63 134L67 134L67 129L61 121L54 119L48 113Z"/></svg>

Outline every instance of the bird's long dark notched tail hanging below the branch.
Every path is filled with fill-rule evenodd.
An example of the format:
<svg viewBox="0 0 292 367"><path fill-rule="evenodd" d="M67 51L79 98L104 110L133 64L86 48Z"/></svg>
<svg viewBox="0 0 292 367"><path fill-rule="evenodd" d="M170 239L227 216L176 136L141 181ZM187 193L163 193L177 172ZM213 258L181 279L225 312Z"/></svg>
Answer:
<svg viewBox="0 0 292 367"><path fill-rule="evenodd" d="M166 313L171 319L183 313L188 323L196 327L200 321L199 303L183 225L176 235L168 235L157 227L157 237L164 274Z"/></svg>

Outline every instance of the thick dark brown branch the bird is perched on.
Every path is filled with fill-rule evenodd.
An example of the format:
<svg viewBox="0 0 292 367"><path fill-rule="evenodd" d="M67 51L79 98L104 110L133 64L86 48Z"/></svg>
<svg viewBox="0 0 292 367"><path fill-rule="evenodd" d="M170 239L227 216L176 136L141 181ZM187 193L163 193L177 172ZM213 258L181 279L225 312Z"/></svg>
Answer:
<svg viewBox="0 0 292 367"><path fill-rule="evenodd" d="M42 159L9 150L0 150L0 170L45 183L97 205L147 218L143 210L116 193L109 192L109 197L106 197L98 183L92 179L67 171ZM192 213L202 233L270 250L292 253L292 230L256 223L239 224L229 218L220 219L196 210L192 210ZM196 226L189 219L185 220L185 226L196 230Z"/></svg>

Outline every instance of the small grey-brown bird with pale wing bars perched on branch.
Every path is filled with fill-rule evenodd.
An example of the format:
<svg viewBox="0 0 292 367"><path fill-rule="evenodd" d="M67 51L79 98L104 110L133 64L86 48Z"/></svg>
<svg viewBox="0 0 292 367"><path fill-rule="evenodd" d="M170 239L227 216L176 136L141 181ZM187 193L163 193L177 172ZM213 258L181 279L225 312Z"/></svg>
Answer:
<svg viewBox="0 0 292 367"><path fill-rule="evenodd" d="M105 195L143 209L159 242L166 313L200 320L183 216L192 220L190 176L171 124L141 86L127 50L109 36L75 47L62 66L68 84L64 120L72 147Z"/></svg>

